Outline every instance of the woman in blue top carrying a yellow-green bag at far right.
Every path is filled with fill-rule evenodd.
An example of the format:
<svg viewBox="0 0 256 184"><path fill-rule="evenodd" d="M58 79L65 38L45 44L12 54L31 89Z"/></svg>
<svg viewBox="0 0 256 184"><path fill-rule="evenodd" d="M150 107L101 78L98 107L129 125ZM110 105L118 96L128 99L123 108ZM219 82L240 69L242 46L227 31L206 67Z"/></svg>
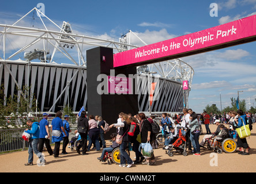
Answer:
<svg viewBox="0 0 256 184"><path fill-rule="evenodd" d="M246 115L243 115L243 110L238 109L238 118L235 118L235 123L238 125L239 128L243 127L243 125L246 125ZM247 144L246 138L241 139L238 136L238 147L241 149L238 154L250 155L249 145Z"/></svg>

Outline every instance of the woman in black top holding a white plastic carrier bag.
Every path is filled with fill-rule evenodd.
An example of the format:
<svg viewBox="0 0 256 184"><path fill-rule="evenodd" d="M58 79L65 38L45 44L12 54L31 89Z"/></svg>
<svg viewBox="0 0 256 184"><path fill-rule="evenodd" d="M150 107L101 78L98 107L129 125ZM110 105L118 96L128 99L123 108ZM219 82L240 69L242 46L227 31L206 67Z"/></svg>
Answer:
<svg viewBox="0 0 256 184"><path fill-rule="evenodd" d="M142 121L141 125L141 144L149 142L151 147L153 140L156 139L155 135L152 133L152 125L150 122L146 119L146 116L144 113L138 114L139 120ZM142 147L143 149L143 147ZM142 162L142 164L147 164L149 166L153 166L156 164L155 155L152 153L150 158L147 158L145 162Z"/></svg>

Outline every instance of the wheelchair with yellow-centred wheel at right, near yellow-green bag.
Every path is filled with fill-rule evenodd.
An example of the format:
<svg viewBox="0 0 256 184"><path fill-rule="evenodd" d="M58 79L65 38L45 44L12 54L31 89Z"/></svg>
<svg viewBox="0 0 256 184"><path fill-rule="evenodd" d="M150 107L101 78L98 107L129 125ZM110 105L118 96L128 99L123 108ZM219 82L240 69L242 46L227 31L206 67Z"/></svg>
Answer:
<svg viewBox="0 0 256 184"><path fill-rule="evenodd" d="M232 153L235 152L237 148L236 141L231 138L217 140L215 143L212 138L208 138L205 140L205 143L207 144L208 150L213 150L218 154L221 154L223 151L226 153Z"/></svg>

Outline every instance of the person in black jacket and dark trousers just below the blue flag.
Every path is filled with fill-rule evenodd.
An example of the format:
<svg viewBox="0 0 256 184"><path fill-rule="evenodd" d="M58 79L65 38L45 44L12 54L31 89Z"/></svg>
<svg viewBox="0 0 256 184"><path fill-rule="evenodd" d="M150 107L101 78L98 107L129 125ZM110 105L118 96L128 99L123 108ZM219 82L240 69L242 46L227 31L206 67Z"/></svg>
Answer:
<svg viewBox="0 0 256 184"><path fill-rule="evenodd" d="M79 144L77 147L77 153L81 154L80 148L82 147L82 155L88 155L86 154L86 149L87 149L87 135L88 135L89 124L88 124L88 118L86 118L85 110L81 112L81 116L78 118L77 128L78 130L75 131L75 133L78 132L82 139L81 144Z"/></svg>

